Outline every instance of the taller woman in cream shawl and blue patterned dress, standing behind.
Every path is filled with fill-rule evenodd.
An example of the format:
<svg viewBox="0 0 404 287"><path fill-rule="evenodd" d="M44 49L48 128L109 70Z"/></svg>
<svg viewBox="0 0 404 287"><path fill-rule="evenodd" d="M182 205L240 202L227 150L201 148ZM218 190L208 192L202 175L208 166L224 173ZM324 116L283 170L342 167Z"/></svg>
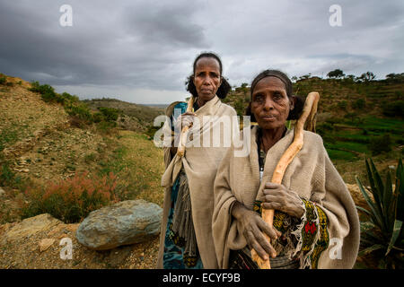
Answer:
<svg viewBox="0 0 404 287"><path fill-rule="evenodd" d="M214 53L203 53L195 59L187 88L196 99L194 111L185 112L185 102L172 103L166 110L171 120L163 127L165 135L179 135L181 126L193 123L191 142L200 143L211 138L213 129L220 129L222 118L236 116L235 110L220 100L230 91L222 72L222 62ZM226 131L220 131L220 137L226 137ZM231 139L232 134L227 137ZM206 141L188 144L181 157L177 155L179 136L173 138L171 148L164 148L162 186L166 190L157 268L217 268L212 237L213 184L217 166L230 143L227 147L206 146Z"/></svg>

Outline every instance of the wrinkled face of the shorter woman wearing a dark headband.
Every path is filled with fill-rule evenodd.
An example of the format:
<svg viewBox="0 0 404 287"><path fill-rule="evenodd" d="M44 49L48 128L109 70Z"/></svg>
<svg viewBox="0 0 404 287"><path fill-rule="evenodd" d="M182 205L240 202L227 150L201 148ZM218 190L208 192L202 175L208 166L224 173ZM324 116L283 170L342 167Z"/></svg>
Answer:
<svg viewBox="0 0 404 287"><path fill-rule="evenodd" d="M252 92L251 113L263 129L285 126L294 101L286 94L285 83L273 76L259 80Z"/></svg>

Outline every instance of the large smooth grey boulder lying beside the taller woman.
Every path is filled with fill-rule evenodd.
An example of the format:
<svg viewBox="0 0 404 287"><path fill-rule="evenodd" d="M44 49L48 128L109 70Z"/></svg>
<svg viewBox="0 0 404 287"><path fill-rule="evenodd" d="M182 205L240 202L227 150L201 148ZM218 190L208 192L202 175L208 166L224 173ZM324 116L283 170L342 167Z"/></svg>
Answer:
<svg viewBox="0 0 404 287"><path fill-rule="evenodd" d="M90 213L75 234L95 250L144 242L160 232L162 208L143 199L127 200Z"/></svg>

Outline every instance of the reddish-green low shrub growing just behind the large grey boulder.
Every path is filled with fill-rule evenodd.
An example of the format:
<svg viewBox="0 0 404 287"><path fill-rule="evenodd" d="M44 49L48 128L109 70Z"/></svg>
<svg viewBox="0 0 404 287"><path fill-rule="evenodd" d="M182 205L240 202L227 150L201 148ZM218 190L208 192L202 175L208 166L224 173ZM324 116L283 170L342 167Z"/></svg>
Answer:
<svg viewBox="0 0 404 287"><path fill-rule="evenodd" d="M48 187L28 187L25 195L29 203L22 206L22 218L49 213L66 223L80 222L92 211L118 202L112 172L103 178L87 175L88 172L76 173L74 178L53 182Z"/></svg>

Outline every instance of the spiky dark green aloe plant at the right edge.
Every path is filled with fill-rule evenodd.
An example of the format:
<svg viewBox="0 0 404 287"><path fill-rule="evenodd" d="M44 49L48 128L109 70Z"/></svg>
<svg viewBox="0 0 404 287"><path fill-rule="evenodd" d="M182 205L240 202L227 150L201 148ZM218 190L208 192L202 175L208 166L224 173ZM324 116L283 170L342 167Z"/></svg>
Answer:
<svg viewBox="0 0 404 287"><path fill-rule="evenodd" d="M393 179L391 171L387 171L384 183L372 159L369 161L365 160L365 165L370 187L364 187L356 176L356 183L369 206L369 210L356 206L368 217L368 222L361 222L361 246L364 248L360 251L359 256L377 251L379 255L382 255L379 261L380 267L402 268L404 251L402 231L404 170L402 161L399 160ZM395 187L392 184L393 181ZM372 194L373 199L368 192Z"/></svg>

